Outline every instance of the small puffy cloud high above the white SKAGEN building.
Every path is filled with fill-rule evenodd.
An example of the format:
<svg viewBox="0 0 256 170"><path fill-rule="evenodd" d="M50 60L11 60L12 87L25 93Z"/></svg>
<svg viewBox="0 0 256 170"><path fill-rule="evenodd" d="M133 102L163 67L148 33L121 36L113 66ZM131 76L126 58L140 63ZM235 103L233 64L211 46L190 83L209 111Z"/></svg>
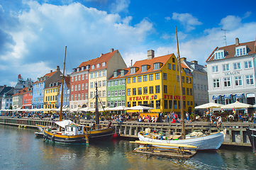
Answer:
<svg viewBox="0 0 256 170"><path fill-rule="evenodd" d="M224 30L235 30L241 26L242 19L239 16L227 16L219 24Z"/></svg>

